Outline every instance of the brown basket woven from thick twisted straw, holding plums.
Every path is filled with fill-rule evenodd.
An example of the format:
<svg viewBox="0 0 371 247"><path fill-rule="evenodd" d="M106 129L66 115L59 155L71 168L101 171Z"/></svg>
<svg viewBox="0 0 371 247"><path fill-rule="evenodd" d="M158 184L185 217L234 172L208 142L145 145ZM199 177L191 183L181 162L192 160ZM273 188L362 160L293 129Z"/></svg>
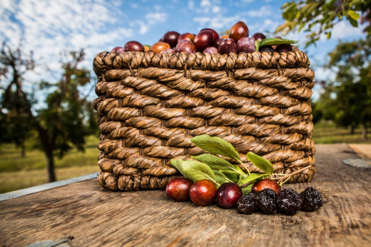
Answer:
<svg viewBox="0 0 371 247"><path fill-rule="evenodd" d="M308 66L298 50L99 53L93 63L98 183L111 190L163 189L178 175L172 158L204 153L190 141L200 134L232 143L253 172L260 170L247 160L248 151L270 160L276 173L312 164L289 180L310 181L316 169Z"/></svg>

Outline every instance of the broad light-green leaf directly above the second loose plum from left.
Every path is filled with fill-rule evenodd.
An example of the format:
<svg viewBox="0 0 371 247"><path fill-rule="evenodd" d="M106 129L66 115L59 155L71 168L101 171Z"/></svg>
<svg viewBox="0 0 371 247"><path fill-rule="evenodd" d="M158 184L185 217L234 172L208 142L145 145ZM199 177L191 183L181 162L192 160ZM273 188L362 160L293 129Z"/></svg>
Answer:
<svg viewBox="0 0 371 247"><path fill-rule="evenodd" d="M185 177L194 182L201 179L209 179L215 182L215 174L207 164L194 160L186 160L183 161L181 166Z"/></svg>

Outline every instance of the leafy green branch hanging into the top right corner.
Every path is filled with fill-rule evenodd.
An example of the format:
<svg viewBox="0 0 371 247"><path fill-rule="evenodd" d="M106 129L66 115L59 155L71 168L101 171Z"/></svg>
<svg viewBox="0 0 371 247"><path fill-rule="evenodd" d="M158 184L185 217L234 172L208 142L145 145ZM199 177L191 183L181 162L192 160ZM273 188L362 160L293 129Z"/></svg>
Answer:
<svg viewBox="0 0 371 247"><path fill-rule="evenodd" d="M358 27L360 20L361 24L366 24L363 31L367 36L371 35L371 0L290 1L281 9L286 21L276 29L276 33L304 30L309 33L306 47L315 44L323 33L330 39L332 28L344 18L354 27Z"/></svg>

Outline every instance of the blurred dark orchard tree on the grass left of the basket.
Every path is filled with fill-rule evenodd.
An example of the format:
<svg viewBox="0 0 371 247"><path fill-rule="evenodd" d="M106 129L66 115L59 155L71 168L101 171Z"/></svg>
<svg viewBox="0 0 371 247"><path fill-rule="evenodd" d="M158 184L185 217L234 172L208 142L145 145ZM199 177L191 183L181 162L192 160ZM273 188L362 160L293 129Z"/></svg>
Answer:
<svg viewBox="0 0 371 247"><path fill-rule="evenodd" d="M11 77L1 96L1 109L7 116L13 112L17 116L26 116L37 131L39 148L45 153L49 181L55 181L54 156L62 157L73 146L83 151L84 137L90 134L86 124L92 121L86 119L86 111L91 108L91 103L79 92L79 87L90 81L90 72L80 66L84 59L83 50L71 52L69 61L62 64L63 74L59 81L38 84L46 98L45 107L36 109L33 93L23 86L22 67L19 66L24 63L21 54L20 49L13 51L5 44L1 50L0 70Z"/></svg>

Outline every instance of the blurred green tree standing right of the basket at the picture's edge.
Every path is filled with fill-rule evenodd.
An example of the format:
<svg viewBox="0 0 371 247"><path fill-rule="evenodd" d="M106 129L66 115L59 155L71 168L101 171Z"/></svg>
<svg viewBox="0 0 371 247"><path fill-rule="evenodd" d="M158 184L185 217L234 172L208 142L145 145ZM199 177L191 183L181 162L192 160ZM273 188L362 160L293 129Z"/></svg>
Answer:
<svg viewBox="0 0 371 247"><path fill-rule="evenodd" d="M336 69L333 90L336 94L335 116L340 126L354 129L362 125L362 138L367 138L371 124L371 36L366 40L339 41L329 53L330 69Z"/></svg>

